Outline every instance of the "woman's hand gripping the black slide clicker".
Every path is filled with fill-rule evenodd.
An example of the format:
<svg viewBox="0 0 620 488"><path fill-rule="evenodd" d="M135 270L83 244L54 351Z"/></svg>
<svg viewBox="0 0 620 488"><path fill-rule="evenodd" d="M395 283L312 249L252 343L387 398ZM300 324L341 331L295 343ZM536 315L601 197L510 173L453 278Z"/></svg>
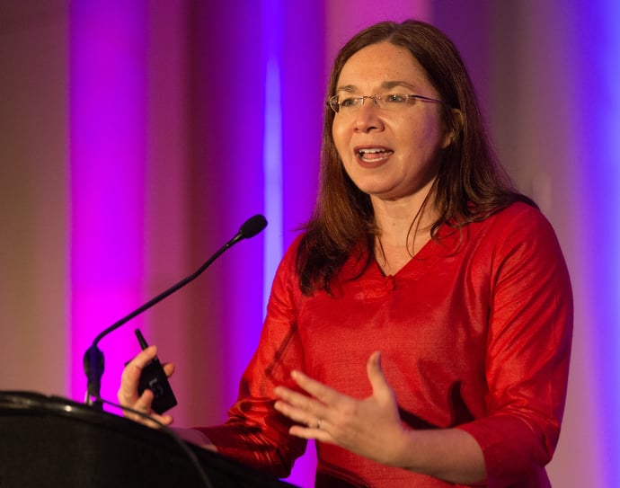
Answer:
<svg viewBox="0 0 620 488"><path fill-rule="evenodd" d="M170 425L173 423L172 415L158 415L154 413L151 404L153 403L153 392L146 388L142 395L137 394L137 385L140 381L140 375L142 369L151 362L157 355L156 346L149 346L145 350L142 350L134 359L131 359L120 377L120 388L118 393L119 403L121 406L129 407L137 412L145 413L149 415L155 421L163 423L164 425ZM174 365L172 363L164 364L164 373L167 377L171 377L174 372ZM123 411L123 415L128 419L143 423L149 427L156 427L156 423L148 421L145 417Z"/></svg>

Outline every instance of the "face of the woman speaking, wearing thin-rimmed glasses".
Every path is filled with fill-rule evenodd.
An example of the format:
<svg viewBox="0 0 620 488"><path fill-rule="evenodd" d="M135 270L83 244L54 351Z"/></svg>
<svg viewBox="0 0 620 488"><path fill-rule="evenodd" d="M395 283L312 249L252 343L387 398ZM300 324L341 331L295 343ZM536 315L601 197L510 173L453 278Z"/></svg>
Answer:
<svg viewBox="0 0 620 488"><path fill-rule="evenodd" d="M388 93L438 98L412 54L387 41L360 49L342 67L339 100ZM437 176L438 152L449 144L440 111L439 103L419 99L394 109L366 99L356 111L335 114L332 136L345 171L374 203L426 196Z"/></svg>

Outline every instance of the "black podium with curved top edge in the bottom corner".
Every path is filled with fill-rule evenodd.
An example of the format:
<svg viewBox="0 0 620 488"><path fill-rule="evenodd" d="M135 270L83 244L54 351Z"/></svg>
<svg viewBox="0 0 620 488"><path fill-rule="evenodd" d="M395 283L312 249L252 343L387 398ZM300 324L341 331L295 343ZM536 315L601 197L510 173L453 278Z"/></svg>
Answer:
<svg viewBox="0 0 620 488"><path fill-rule="evenodd" d="M163 430L84 404L31 392L0 392L0 488L204 488L209 484L216 488L292 486L180 443Z"/></svg>

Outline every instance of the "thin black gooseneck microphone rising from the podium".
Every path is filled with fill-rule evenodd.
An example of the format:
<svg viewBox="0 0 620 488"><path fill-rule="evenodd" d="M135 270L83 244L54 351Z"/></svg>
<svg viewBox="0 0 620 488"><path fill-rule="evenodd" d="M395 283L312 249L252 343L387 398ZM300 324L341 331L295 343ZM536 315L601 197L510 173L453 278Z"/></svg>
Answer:
<svg viewBox="0 0 620 488"><path fill-rule="evenodd" d="M146 304L144 304L143 306L140 306L139 308L131 312L129 315L124 316L118 322L111 324L110 327L108 327L102 333L97 335L97 337L94 338L93 344L91 345L91 347L88 348L86 352L84 353L84 373L87 378L85 404L94 406L98 408L99 410L103 409L102 400L100 398L100 391L101 391L101 386L102 386L102 376L103 376L103 368L104 368L105 361L103 359L103 353L97 347L97 345L106 335L115 331L121 325L128 323L132 318L136 317L137 315L142 314L143 312L148 310L151 306L158 304L165 297L169 297L179 288L182 288L188 283L190 283L190 281L193 281L194 279L198 278L199 275L203 271L205 271L211 265L212 262L217 260L220 254L226 251L226 249L237 244L239 241L242 241L244 239L249 239L253 237L254 235L259 234L262 231L262 229L264 229L266 226L267 226L267 220L265 219L265 217L262 217L261 214L257 214L253 217L248 218L244 222L244 225L239 228L239 232L237 232L236 235L232 239L230 239L226 244L220 247L216 253L214 253L210 258L208 258L207 262L205 262L202 266L200 266L197 271L190 274L190 276L188 276L187 278L182 279L181 281L179 281L172 287L164 290L162 293L160 293L156 297L146 302Z"/></svg>

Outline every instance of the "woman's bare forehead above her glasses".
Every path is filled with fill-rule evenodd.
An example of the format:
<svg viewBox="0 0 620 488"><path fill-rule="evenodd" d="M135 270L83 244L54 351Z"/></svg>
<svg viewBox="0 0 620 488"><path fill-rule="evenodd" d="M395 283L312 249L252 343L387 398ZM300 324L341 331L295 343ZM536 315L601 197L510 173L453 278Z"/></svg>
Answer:
<svg viewBox="0 0 620 488"><path fill-rule="evenodd" d="M345 62L336 89L373 88L394 81L416 88L431 87L426 72L409 50L383 41L359 49Z"/></svg>

